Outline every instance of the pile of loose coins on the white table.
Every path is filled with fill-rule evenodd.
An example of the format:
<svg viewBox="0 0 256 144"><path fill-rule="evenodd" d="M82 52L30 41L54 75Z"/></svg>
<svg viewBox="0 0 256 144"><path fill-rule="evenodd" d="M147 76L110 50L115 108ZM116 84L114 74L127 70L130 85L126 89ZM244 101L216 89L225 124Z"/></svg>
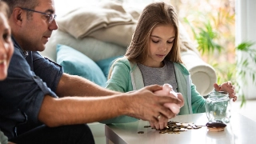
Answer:
<svg viewBox="0 0 256 144"><path fill-rule="evenodd" d="M144 126L145 128L149 128L151 126ZM187 131L187 130L191 130L191 129L200 129L202 128L202 126L197 126L194 125L194 123L180 123L180 122L174 122L174 121L169 121L167 123L167 126L162 129L159 130L159 134L179 134L179 132L181 131ZM153 129L153 128L152 128ZM138 133L138 134L142 134L142 133Z"/></svg>

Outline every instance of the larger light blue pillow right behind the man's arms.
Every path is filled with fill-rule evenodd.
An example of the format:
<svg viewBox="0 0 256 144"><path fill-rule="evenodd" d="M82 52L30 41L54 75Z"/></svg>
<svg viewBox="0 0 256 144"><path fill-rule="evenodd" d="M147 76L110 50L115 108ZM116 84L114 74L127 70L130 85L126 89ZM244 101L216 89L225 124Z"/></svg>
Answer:
<svg viewBox="0 0 256 144"><path fill-rule="evenodd" d="M67 74L79 75L99 86L106 86L106 77L101 68L85 54L70 46L57 46L57 63L63 66L63 70Z"/></svg>

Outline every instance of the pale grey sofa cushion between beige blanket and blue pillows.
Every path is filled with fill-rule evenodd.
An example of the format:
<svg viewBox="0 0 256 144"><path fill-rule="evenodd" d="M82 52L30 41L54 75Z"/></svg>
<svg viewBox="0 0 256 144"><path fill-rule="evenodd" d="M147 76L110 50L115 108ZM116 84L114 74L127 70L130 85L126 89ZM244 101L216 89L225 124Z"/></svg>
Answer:
<svg viewBox="0 0 256 144"><path fill-rule="evenodd" d="M70 46L82 54L86 54L94 62L126 54L126 47L110 42L102 42L96 38L76 39L61 30L53 31L49 42L46 43L46 50L43 50L40 54L56 62L56 46L58 44Z"/></svg>

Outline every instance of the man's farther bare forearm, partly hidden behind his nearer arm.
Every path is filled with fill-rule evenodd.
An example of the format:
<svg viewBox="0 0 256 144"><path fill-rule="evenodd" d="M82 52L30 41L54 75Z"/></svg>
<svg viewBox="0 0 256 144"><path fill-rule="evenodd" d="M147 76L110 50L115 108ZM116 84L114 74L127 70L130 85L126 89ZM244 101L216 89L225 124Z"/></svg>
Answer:
<svg viewBox="0 0 256 144"><path fill-rule="evenodd" d="M98 86L94 82L90 82L86 78L63 74L56 93L60 97L65 96L106 96L119 94L113 90L107 90Z"/></svg>

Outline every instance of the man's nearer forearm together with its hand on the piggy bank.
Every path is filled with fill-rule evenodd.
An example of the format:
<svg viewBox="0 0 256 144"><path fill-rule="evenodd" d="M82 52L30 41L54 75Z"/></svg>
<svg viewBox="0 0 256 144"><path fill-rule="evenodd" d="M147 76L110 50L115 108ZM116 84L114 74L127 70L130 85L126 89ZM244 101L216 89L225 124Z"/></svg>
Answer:
<svg viewBox="0 0 256 144"><path fill-rule="evenodd" d="M173 94L156 95L161 86L146 86L130 93L115 94L106 97L66 97L43 99L38 119L47 126L62 126L98 122L119 115L130 115L152 123L167 122L175 114L165 103L180 104ZM162 118L158 118L159 115Z"/></svg>

